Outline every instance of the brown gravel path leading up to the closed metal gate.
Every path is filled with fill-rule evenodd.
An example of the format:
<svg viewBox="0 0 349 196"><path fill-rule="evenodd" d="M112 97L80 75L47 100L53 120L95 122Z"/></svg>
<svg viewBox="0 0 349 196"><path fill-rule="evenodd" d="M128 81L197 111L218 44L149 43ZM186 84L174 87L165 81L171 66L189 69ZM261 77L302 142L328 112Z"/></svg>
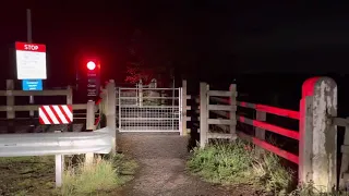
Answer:
<svg viewBox="0 0 349 196"><path fill-rule="evenodd" d="M179 135L120 134L119 149L140 164L135 179L122 188L124 196L254 195L248 187L212 185L185 171L188 137ZM248 191L248 193L246 193Z"/></svg>

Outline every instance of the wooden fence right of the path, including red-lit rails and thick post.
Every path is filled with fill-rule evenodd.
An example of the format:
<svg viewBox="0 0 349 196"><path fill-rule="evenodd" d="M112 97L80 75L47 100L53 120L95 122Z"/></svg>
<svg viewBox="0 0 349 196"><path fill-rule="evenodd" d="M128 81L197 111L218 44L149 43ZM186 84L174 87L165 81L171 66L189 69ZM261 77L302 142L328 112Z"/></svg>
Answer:
<svg viewBox="0 0 349 196"><path fill-rule="evenodd" d="M193 109L186 106L186 82L183 82L183 120L186 111ZM299 182L313 182L314 185L325 192L337 188L337 126L349 126L349 122L337 118L337 86L328 77L313 77L304 82L299 111L292 111L272 106L237 101L237 86L230 85L227 90L212 90L206 83L200 84L200 144L205 147L209 138L229 138L234 140L237 136L249 140L254 145L272 151L296 164L298 164ZM184 102L185 101L185 102ZM256 118L250 119L237 114L237 109L248 108L255 110ZM238 112L239 113L239 112ZM289 118L299 121L299 130L289 130L274 125L266 121L266 113ZM249 135L237 128L237 121L255 127L255 135ZM195 123L195 122L194 122ZM183 131L189 130L183 123ZM219 128L215 128L219 127ZM220 132L217 132L220 130ZM298 140L299 154L279 148L265 139L265 132L282 135ZM346 133L345 144L341 147L344 154L340 171L340 187L349 183L349 134Z"/></svg>

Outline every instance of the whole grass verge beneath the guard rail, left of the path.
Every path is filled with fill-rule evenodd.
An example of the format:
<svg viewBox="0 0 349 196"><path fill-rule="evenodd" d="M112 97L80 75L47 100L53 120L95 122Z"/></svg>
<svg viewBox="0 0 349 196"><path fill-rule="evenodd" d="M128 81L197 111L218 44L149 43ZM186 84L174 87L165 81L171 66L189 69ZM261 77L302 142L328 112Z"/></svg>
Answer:
<svg viewBox="0 0 349 196"><path fill-rule="evenodd" d="M56 189L53 156L0 158L0 195L109 195L132 180L137 168L135 161L120 154L88 167L65 160L63 185Z"/></svg>

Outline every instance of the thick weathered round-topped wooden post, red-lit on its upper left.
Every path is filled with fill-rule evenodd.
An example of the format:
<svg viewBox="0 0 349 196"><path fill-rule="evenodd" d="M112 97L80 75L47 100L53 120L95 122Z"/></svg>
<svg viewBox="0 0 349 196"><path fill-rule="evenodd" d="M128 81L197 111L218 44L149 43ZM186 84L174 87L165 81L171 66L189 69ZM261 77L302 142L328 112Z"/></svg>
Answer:
<svg viewBox="0 0 349 196"><path fill-rule="evenodd" d="M322 192L337 187L337 85L329 77L313 77L302 86L300 103L299 179Z"/></svg>

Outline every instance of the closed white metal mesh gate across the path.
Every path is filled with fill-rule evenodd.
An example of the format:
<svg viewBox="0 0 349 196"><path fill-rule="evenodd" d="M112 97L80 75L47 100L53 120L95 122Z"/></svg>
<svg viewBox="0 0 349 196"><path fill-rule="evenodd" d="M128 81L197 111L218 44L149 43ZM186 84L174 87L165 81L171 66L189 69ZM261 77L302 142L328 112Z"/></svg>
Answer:
<svg viewBox="0 0 349 196"><path fill-rule="evenodd" d="M181 88L119 88L119 132L182 133Z"/></svg>

